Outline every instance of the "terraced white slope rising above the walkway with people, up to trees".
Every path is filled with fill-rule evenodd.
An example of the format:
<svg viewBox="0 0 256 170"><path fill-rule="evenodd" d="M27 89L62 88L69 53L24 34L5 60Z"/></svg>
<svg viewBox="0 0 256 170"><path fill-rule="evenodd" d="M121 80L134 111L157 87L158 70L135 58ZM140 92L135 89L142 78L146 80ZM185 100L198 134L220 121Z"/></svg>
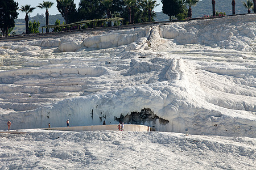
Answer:
<svg viewBox="0 0 256 170"><path fill-rule="evenodd" d="M0 42L0 124L125 121L255 138L255 35L251 14Z"/></svg>

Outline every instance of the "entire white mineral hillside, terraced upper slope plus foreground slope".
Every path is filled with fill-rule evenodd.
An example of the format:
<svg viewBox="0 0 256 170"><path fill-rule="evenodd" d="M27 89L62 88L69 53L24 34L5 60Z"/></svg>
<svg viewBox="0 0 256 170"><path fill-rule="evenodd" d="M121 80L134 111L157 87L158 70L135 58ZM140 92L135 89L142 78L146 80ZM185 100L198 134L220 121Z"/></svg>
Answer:
<svg viewBox="0 0 256 170"><path fill-rule="evenodd" d="M256 14L1 41L0 168L256 169L255 76Z"/></svg>

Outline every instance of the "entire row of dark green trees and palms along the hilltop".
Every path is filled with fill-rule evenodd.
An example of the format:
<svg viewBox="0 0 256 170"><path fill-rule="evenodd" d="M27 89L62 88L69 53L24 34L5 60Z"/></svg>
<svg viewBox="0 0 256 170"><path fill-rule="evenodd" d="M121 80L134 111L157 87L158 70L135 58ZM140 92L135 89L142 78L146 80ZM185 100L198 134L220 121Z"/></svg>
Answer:
<svg viewBox="0 0 256 170"><path fill-rule="evenodd" d="M231 0L230 0L231 1ZM247 0L243 5L250 9L255 8L255 1ZM174 19L192 18L191 6L196 5L199 0L161 0L163 7L162 11ZM234 0L232 0L233 4ZM215 3L212 0L212 4ZM49 24L48 9L53 6L54 2L43 1L37 7L46 10L46 25ZM113 18L118 16L125 19L125 24L134 24L140 22L154 22L156 12L154 8L159 4L156 0L81 0L78 8L73 0L56 0L57 9L63 16L65 24L79 22L81 20L93 20L101 18ZM18 3L14 0L0 0L0 29L3 36L7 36L14 28L14 19L18 18L17 10L26 13L26 33L31 32L33 25L38 23L28 23L28 14L35 10L36 7L30 5L18 7ZM214 10L214 9L213 9ZM254 9L254 12L256 10ZM214 10L215 12L215 10ZM213 16L214 13L213 12ZM30 26L29 26L30 24ZM108 26L112 23L108 22ZM39 25L38 25L39 27ZM48 28L46 32L49 32Z"/></svg>

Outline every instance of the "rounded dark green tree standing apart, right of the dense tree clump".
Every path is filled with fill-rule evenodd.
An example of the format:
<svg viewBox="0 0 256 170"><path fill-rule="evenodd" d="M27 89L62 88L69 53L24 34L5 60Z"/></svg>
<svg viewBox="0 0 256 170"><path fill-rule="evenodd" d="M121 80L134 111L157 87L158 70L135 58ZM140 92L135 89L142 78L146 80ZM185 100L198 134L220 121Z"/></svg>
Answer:
<svg viewBox="0 0 256 170"><path fill-rule="evenodd" d="M162 11L167 14L171 20L171 16L183 13L185 5L182 0L161 0L163 3Z"/></svg>

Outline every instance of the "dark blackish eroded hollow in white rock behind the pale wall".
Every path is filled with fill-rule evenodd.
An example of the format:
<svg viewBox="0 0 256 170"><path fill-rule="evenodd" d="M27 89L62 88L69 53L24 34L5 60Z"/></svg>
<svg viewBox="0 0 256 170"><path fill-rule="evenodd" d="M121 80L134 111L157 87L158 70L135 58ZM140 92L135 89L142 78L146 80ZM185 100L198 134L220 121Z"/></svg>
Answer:
<svg viewBox="0 0 256 170"><path fill-rule="evenodd" d="M116 121L125 122L125 124L138 124L138 125L150 125L154 128L156 121L159 124L166 125L169 123L168 120L164 120L160 118L150 108L144 108L141 112L131 112L131 114L127 114L123 116L120 115L119 118L115 117Z"/></svg>

